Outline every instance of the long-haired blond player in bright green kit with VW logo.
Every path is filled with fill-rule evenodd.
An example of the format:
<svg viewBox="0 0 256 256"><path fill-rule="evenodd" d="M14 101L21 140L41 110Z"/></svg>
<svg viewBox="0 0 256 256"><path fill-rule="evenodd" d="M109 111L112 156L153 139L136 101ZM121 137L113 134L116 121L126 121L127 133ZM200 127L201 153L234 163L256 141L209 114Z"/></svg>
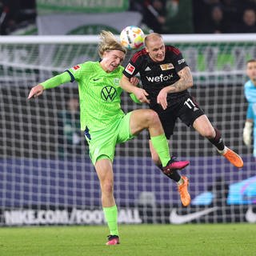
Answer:
<svg viewBox="0 0 256 256"><path fill-rule="evenodd" d="M38 97L43 90L54 88L66 82L78 82L80 101L81 130L90 148L90 158L94 164L102 191L102 208L110 235L106 245L119 244L118 209L114 200L113 160L117 143L134 138L140 131L147 129L166 174L181 170L189 162L175 161L170 158L169 146L162 129L158 114L154 110L134 110L124 114L121 109L119 86L123 67L120 66L126 49L113 34L102 31L98 45L100 62L85 62L73 66L62 74L34 86L28 98ZM136 83L136 78L131 80ZM146 92L145 92L146 93ZM135 95L137 98L140 95ZM190 203L188 181L180 181L183 205Z"/></svg>

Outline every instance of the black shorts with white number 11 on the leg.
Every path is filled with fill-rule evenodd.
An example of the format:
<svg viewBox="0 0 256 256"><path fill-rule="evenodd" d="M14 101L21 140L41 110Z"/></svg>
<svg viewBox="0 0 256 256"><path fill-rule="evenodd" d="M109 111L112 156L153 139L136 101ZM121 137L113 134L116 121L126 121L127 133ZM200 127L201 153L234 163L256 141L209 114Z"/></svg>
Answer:
<svg viewBox="0 0 256 256"><path fill-rule="evenodd" d="M204 111L198 106L198 102L190 94L183 96L171 104L166 110L162 110L162 106L154 109L162 122L166 138L170 138L174 134L174 126L177 118L180 118L186 126L193 126L194 120L202 116Z"/></svg>

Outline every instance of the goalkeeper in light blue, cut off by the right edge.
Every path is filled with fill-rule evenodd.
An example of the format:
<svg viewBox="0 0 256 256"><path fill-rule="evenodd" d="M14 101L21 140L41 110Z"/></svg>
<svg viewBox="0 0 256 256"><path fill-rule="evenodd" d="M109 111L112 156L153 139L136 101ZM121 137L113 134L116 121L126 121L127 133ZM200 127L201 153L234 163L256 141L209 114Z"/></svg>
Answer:
<svg viewBox="0 0 256 256"><path fill-rule="evenodd" d="M246 123L243 129L243 142L250 146L252 142L252 130L254 126L254 157L256 157L256 59L250 59L246 64L246 74L249 81L245 83L244 92L249 103Z"/></svg>

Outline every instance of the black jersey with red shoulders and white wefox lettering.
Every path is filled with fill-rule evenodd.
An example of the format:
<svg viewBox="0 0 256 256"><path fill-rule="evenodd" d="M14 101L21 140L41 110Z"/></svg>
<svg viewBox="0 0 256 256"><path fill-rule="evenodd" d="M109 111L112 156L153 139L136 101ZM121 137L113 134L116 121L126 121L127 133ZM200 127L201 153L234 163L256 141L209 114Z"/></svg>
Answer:
<svg viewBox="0 0 256 256"><path fill-rule="evenodd" d="M144 48L130 58L130 62L127 64L123 74L127 78L140 74L142 88L149 94L150 108L154 109L158 105L157 96L160 90L177 82L179 79L178 71L186 66L182 53L174 46L166 46L166 55L163 62L154 62ZM185 95L188 95L187 90L168 94L168 106Z"/></svg>

